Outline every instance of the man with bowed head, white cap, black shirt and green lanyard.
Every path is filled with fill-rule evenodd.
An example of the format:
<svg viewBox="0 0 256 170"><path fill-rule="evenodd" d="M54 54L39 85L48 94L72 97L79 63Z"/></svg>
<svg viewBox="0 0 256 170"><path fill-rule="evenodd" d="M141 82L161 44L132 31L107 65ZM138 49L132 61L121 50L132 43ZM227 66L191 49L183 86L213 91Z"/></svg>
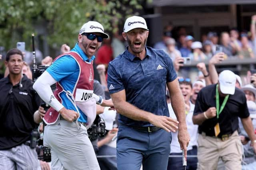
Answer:
<svg viewBox="0 0 256 170"><path fill-rule="evenodd" d="M198 170L216 170L219 158L228 170L242 169L238 117L254 152L256 150L256 137L249 115L245 94L236 88L236 76L232 71L222 71L217 84L200 90L192 118L193 123L199 125Z"/></svg>

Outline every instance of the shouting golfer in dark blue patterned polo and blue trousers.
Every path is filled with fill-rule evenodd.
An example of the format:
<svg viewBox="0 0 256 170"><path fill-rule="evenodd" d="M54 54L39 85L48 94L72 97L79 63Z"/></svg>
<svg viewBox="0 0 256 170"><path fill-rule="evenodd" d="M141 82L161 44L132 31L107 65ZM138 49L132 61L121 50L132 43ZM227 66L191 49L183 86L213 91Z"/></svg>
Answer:
<svg viewBox="0 0 256 170"><path fill-rule="evenodd" d="M118 170L166 170L170 131L178 130L181 149L190 141L185 105L172 60L164 51L145 47L148 27L142 17L124 24L128 47L108 67L108 89L120 113L117 138ZM178 121L169 117L166 84Z"/></svg>

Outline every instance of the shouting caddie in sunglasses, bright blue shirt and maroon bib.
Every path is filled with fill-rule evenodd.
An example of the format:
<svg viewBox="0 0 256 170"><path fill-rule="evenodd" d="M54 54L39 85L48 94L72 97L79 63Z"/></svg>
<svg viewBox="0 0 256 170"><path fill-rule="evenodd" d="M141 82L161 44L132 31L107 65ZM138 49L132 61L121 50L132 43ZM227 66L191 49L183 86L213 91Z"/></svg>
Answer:
<svg viewBox="0 0 256 170"><path fill-rule="evenodd" d="M100 169L86 128L96 117L96 102L103 101L93 93L92 64L104 38L108 35L103 26L88 21L80 29L75 47L58 56L34 83L33 88L51 106L43 120L44 145L51 147L52 169ZM52 93L50 85L54 83Z"/></svg>

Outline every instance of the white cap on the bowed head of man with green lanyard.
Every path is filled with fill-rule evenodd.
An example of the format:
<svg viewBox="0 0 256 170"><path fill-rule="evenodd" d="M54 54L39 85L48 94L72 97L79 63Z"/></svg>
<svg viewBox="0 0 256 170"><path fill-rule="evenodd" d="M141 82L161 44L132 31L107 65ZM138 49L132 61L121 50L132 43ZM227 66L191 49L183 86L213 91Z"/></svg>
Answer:
<svg viewBox="0 0 256 170"><path fill-rule="evenodd" d="M219 75L220 91L233 95L236 90L236 75L230 70L224 70Z"/></svg>

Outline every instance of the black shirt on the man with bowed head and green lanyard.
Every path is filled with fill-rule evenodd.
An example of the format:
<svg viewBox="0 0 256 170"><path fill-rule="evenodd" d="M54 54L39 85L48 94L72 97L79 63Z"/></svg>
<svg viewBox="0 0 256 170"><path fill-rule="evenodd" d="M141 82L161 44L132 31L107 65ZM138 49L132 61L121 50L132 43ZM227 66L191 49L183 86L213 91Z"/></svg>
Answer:
<svg viewBox="0 0 256 170"><path fill-rule="evenodd" d="M223 103L224 97L220 97L220 107ZM210 107L216 107L216 84L206 86L198 93L194 115L203 113ZM214 135L214 126L220 124L221 137L225 134L231 134L238 129L238 117L246 118L250 115L246 97L242 90L236 88L234 95L230 95L228 101L219 115L219 118L213 117L205 120L202 125L198 126L199 133L205 132L208 136Z"/></svg>

